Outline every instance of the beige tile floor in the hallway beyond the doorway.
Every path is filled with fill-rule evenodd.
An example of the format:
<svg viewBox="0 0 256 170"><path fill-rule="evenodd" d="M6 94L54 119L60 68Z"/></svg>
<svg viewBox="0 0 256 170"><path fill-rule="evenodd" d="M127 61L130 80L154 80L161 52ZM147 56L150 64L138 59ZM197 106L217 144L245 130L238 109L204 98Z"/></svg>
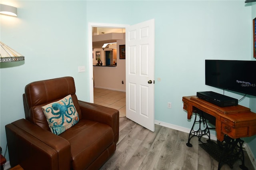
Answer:
<svg viewBox="0 0 256 170"><path fill-rule="evenodd" d="M119 110L119 117L126 117L125 92L94 88L94 103Z"/></svg>

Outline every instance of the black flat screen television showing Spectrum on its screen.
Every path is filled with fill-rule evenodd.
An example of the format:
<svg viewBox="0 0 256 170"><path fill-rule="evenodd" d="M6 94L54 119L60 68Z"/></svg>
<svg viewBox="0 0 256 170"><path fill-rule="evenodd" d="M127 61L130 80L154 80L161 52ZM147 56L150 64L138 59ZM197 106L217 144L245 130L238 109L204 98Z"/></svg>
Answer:
<svg viewBox="0 0 256 170"><path fill-rule="evenodd" d="M206 59L205 84L256 96L256 61Z"/></svg>

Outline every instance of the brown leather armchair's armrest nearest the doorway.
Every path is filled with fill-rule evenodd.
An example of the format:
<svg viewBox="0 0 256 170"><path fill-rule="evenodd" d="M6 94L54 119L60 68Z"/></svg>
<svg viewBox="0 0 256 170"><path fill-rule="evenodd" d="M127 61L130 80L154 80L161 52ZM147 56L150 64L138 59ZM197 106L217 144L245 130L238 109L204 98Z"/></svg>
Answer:
<svg viewBox="0 0 256 170"><path fill-rule="evenodd" d="M119 111L85 101L78 101L78 103L83 119L105 123L112 127L114 132L114 142L117 143L119 138Z"/></svg>

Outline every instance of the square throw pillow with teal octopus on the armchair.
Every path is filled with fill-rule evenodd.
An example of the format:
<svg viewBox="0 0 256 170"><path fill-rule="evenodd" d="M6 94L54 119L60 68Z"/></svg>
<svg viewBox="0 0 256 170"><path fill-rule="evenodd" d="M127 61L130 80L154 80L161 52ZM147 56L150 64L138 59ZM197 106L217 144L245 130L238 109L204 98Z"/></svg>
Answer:
<svg viewBox="0 0 256 170"><path fill-rule="evenodd" d="M61 134L79 121L71 95L42 107L49 127L54 134Z"/></svg>

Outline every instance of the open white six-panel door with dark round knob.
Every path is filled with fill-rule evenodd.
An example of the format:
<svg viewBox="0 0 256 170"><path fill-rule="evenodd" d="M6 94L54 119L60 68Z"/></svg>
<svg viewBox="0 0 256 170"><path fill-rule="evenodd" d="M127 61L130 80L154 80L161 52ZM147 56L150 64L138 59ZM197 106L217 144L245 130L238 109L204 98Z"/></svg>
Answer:
<svg viewBox="0 0 256 170"><path fill-rule="evenodd" d="M126 117L154 132L154 19L126 28Z"/></svg>

